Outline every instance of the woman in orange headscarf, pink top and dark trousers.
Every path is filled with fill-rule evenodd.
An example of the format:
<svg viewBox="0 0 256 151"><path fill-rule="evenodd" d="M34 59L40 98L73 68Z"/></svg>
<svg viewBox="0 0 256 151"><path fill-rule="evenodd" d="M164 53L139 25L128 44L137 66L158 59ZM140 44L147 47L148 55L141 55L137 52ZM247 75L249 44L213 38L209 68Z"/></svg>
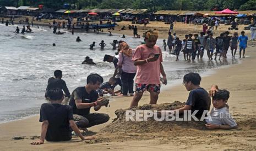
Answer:
<svg viewBox="0 0 256 151"><path fill-rule="evenodd" d="M134 49L130 49L129 45L125 42L119 45L119 57L118 57L118 67L122 68L121 80L122 80L122 94L119 96L127 96L128 91L130 96L133 96L133 79L137 72L137 66L134 66L132 61L132 56L134 54Z"/></svg>

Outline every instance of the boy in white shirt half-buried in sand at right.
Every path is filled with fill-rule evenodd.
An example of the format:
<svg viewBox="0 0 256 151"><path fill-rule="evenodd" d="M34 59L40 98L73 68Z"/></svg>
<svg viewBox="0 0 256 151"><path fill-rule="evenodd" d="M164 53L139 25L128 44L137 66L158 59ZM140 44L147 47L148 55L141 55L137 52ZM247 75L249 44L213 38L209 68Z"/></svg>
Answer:
<svg viewBox="0 0 256 151"><path fill-rule="evenodd" d="M230 97L230 92L227 90L218 90L217 85L211 86L211 92L214 92L213 95L213 109L211 109L210 117L206 119L205 126L210 129L237 129L237 123L232 118L231 114L228 111L227 100Z"/></svg>

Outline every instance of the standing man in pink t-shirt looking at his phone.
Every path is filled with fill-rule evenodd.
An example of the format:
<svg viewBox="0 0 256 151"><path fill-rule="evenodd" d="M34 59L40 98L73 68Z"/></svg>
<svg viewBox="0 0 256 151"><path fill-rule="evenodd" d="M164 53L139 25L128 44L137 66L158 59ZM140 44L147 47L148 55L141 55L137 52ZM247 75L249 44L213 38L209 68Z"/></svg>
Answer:
<svg viewBox="0 0 256 151"><path fill-rule="evenodd" d="M162 51L155 45L158 32L150 30L144 33L146 44L139 45L132 60L137 66L137 77L135 80L135 95L130 107L138 106L143 92L150 92L150 104L156 104L160 93L160 73L163 76L163 84L167 84L166 74L162 66Z"/></svg>

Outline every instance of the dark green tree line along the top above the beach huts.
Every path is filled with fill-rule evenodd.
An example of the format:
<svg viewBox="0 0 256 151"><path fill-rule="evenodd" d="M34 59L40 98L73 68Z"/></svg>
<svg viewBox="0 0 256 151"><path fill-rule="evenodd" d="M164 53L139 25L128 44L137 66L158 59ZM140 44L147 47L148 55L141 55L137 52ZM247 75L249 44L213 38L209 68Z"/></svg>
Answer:
<svg viewBox="0 0 256 151"><path fill-rule="evenodd" d="M256 0L0 0L2 6L19 7L29 5L62 9L114 8L114 9L149 9L156 10L256 10ZM68 5L67 5L68 4Z"/></svg>

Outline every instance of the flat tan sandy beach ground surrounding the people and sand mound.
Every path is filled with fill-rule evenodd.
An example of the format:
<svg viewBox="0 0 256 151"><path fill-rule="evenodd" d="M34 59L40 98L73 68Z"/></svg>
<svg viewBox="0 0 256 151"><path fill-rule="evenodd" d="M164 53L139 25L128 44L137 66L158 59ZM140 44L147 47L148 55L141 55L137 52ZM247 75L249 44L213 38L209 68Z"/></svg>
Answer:
<svg viewBox="0 0 256 151"><path fill-rule="evenodd" d="M129 22L121 22L119 27L128 24ZM180 23L175 25L178 37L179 35L183 37L185 33L198 33L201 31L201 26L179 26L181 26ZM142 35L144 30L157 28L160 31L160 38L167 39L166 31L168 27L169 25L164 25L164 22L154 22L144 29L143 25L139 25L139 34ZM220 30L217 30L215 36L226 30L227 26L220 26ZM116 28L112 32L132 35L132 30L119 31ZM249 35L249 32L246 31L246 34ZM0 124L1 150L255 150L256 51L251 45L252 43L249 43L246 50L246 58L241 60L242 63L214 69L213 74L203 77L201 81L201 87L206 90L209 90L212 84L217 84L220 89L230 91L231 96L228 104L230 112L233 113L233 117L238 123L238 129L200 130L184 124L183 126L170 126L168 131L166 127L161 129L161 126L152 125L154 126L152 129L156 129L155 131L102 132L101 129L116 118L115 111L121 108L128 108L132 100L132 97L115 96L111 97L110 107L104 107L100 110L100 112L110 115L110 121L89 128L90 134L96 137L95 140L80 141L80 138L73 137L72 141L56 143L45 141L40 146L31 146L30 142L35 141L32 139L37 139L41 132L39 115L36 115L27 119ZM228 51L228 53L231 52ZM236 59L238 60L238 54ZM174 101L186 102L189 92L184 88L182 81L180 84L169 84L169 86L170 89L161 91L157 104ZM148 92L141 98L139 105L146 103L149 103ZM12 140L14 136L23 136L24 139Z"/></svg>

